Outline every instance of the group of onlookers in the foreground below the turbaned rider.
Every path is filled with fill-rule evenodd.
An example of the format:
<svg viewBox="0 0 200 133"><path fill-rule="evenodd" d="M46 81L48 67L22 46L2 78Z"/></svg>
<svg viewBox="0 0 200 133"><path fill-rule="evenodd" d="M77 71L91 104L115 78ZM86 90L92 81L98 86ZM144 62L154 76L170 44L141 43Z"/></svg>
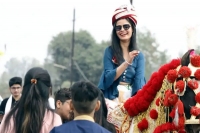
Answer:
<svg viewBox="0 0 200 133"><path fill-rule="evenodd" d="M56 91L55 109L50 106L51 78L47 70L31 68L23 86L20 77L11 78L9 86L11 96L0 106L5 112L0 133L64 133L66 129L76 133L115 132L106 121L103 94L90 82L75 82Z"/></svg>

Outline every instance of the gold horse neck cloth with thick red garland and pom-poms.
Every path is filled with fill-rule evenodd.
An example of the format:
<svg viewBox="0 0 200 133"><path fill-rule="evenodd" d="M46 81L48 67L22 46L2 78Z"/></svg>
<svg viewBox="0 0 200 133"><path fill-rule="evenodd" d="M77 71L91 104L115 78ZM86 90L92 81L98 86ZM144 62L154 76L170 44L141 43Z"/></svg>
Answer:
<svg viewBox="0 0 200 133"><path fill-rule="evenodd" d="M108 114L108 121L116 126L119 133L152 133L157 125L168 120L162 101L164 92L171 87L171 83L167 82L165 75L179 65L180 59L163 65L124 106L116 107Z"/></svg>

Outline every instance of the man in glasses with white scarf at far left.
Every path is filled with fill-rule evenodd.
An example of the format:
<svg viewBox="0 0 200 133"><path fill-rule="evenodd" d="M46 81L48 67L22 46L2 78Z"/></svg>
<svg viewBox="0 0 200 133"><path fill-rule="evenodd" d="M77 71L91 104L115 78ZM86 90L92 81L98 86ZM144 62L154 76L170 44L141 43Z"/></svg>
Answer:
<svg viewBox="0 0 200 133"><path fill-rule="evenodd" d="M11 108L13 108L19 101L22 92L22 78L13 77L9 80L9 90L11 96L5 98L0 105L1 114L8 113Z"/></svg>

